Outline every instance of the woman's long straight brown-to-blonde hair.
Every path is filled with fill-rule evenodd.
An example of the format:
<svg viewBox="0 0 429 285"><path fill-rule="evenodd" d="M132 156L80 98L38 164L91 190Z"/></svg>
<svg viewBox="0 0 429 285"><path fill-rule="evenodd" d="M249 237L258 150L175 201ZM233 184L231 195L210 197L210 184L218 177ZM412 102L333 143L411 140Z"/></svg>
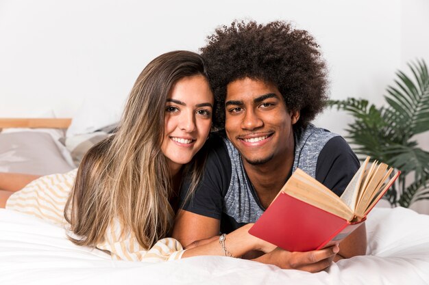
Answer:
<svg viewBox="0 0 429 285"><path fill-rule="evenodd" d="M64 208L71 231L82 236L69 237L74 243L95 247L114 219L145 248L167 236L174 212L171 174L160 150L165 103L175 82L198 74L207 78L203 59L190 51L160 55L140 73L117 133L91 149L79 166ZM200 153L188 165L191 189L201 179L202 165Z"/></svg>

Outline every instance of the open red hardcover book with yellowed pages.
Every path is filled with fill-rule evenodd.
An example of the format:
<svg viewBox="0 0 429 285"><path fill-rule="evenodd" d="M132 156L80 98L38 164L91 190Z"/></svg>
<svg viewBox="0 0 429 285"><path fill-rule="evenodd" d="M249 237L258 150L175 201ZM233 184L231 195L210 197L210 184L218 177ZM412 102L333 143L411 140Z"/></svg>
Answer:
<svg viewBox="0 0 429 285"><path fill-rule="evenodd" d="M384 163L360 166L343 195L296 169L249 233L290 252L339 243L365 221L400 172Z"/></svg>

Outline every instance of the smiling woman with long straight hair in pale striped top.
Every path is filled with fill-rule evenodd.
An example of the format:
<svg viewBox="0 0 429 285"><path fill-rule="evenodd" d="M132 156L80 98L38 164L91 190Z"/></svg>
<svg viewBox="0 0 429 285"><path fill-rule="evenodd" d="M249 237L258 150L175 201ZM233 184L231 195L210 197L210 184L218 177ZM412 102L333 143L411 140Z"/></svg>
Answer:
<svg viewBox="0 0 429 285"><path fill-rule="evenodd" d="M201 57L189 51L160 55L136 80L117 133L79 168L70 197L76 171L34 180L11 195L6 208L69 221L79 235L73 235L75 243L139 260L169 234L182 174L191 173L194 185L201 176L204 157L195 154L210 133L212 109ZM164 243L172 244L171 252L182 249L173 239Z"/></svg>

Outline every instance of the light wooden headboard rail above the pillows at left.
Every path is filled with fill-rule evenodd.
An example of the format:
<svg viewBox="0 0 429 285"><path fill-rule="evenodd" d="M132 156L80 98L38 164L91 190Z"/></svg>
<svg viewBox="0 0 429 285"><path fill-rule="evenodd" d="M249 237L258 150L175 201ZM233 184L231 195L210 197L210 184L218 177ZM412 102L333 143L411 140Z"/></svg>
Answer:
<svg viewBox="0 0 429 285"><path fill-rule="evenodd" d="M0 118L0 128L69 128L70 118Z"/></svg>

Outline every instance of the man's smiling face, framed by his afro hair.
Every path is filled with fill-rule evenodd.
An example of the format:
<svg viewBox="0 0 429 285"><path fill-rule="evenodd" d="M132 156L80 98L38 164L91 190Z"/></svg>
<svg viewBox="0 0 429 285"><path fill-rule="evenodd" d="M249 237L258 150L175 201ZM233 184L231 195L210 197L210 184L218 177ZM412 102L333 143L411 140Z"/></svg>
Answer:
<svg viewBox="0 0 429 285"><path fill-rule="evenodd" d="M292 125L299 111L288 111L275 85L238 79L227 85L225 131L249 164L262 165L293 154Z"/></svg>

